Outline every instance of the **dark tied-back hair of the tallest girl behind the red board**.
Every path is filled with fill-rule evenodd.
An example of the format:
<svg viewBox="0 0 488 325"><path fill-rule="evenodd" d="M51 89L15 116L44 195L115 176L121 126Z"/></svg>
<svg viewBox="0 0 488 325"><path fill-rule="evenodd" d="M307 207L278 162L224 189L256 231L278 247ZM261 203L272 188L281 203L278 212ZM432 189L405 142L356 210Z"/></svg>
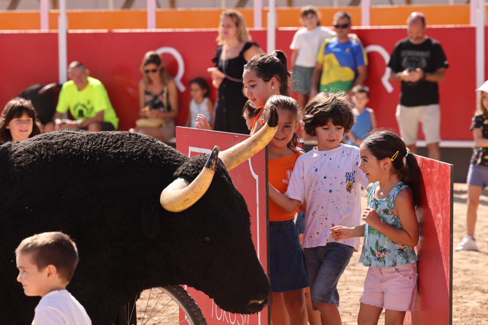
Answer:
<svg viewBox="0 0 488 325"><path fill-rule="evenodd" d="M244 71L254 71L258 78L268 82L275 77L279 82L279 95L290 96L288 78L291 76L287 68L286 55L283 51L273 51L272 54L255 55L244 65Z"/></svg>

